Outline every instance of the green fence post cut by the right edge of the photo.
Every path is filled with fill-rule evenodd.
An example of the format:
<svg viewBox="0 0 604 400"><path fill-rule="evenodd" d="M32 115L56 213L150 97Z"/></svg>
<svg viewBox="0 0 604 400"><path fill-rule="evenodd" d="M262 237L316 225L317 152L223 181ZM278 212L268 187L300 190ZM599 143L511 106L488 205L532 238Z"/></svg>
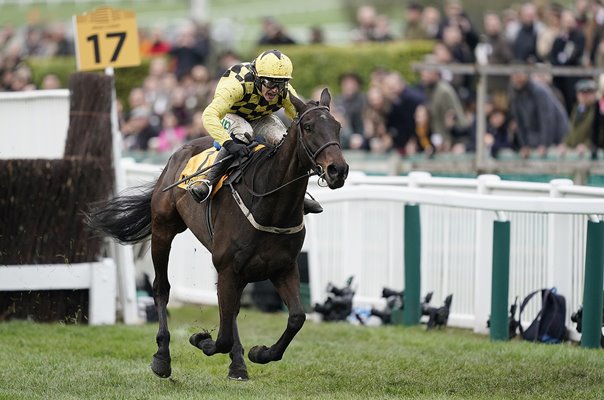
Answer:
<svg viewBox="0 0 604 400"><path fill-rule="evenodd" d="M604 284L604 222L587 222L581 347L600 348Z"/></svg>

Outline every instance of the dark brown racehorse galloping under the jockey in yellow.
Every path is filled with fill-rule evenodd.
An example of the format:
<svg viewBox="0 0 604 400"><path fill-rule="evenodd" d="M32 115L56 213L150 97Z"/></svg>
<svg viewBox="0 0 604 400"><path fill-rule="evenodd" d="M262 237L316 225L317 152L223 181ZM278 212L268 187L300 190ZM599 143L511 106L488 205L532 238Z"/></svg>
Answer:
<svg viewBox="0 0 604 400"><path fill-rule="evenodd" d="M292 94L290 97L298 116L287 135L272 149L255 152L250 160L253 168L245 169L230 190L223 186L201 204L184 189L165 190L178 180L192 156L212 146L213 140L204 137L177 150L153 187L115 197L88 214L92 228L122 243L151 236L153 298L159 316L158 348L151 369L159 377L167 378L172 372L166 311L168 257L172 240L187 228L212 254L218 272L220 312L216 341L202 331L193 334L189 342L208 356L229 353L229 378L248 379L237 330L241 294L248 283L270 279L289 312L279 340L270 347L252 347L250 361L265 364L280 360L304 324L297 256L305 236L303 201L312 175L309 171L337 189L344 185L348 164L340 147L341 126L329 111L329 91L323 90L319 102L304 103Z"/></svg>

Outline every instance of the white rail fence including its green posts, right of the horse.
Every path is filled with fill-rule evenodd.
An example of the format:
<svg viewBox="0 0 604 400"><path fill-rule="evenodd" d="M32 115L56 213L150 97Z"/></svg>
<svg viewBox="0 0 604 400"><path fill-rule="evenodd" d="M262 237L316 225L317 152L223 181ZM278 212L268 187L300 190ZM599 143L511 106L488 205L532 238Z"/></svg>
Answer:
<svg viewBox="0 0 604 400"><path fill-rule="evenodd" d="M311 217L313 222L309 224L311 276L325 275L325 269L345 268L337 265L337 256L330 259L336 265L327 265L322 254L313 257L313 252L321 253L313 245L324 240L322 230L327 226L340 226L344 232L364 232L358 238L348 238L350 246L341 243L355 253L363 247L374 249L380 241L392 242L388 232L402 219L402 249L392 244L380 247L391 254L391 259L400 256L401 250L404 254L404 278L396 279L402 280L399 288L405 289L405 324L419 322L420 293L435 290L444 298L452 292L453 325L486 332L490 318L491 338L505 339L511 298L555 286L569 299L567 327L570 328L570 313L582 303L583 318L590 319L589 323L583 320L584 329L589 326L590 333L583 331L582 344L599 347L604 285L604 223L599 215L604 212L604 190L574 186L570 180L531 184L505 182L489 175L476 180L454 180L412 173L407 182L399 180L388 186L383 184L387 178L378 185L371 184L371 178L362 180L365 182L351 182L338 191L316 193L326 207L326 215L324 219ZM457 190L453 189L456 185ZM397 205L403 212L393 209ZM334 218L333 206L349 208L350 213ZM368 221L359 229L351 229L349 225L356 224L354 219ZM380 220L384 223L381 227L368 231ZM376 265L378 259L370 262L371 258L361 256L373 264L356 267L362 276L385 268ZM313 265L313 260L319 265ZM325 284L325 280L316 282L318 287L311 284L311 293ZM380 283L396 284L385 280ZM379 293L377 285L372 286L371 291ZM363 279L359 294L369 294L363 288ZM373 299L363 296L359 300L375 301L375 294Z"/></svg>

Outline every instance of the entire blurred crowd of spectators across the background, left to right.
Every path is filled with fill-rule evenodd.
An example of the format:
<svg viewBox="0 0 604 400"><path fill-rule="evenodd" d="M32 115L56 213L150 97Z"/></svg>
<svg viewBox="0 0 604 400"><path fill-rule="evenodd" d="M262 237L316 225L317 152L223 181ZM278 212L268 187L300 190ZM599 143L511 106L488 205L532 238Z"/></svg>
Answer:
<svg viewBox="0 0 604 400"><path fill-rule="evenodd" d="M434 40L423 61L442 66L419 71L410 84L396 71L376 67L369 76L342 74L332 111L342 123L347 149L456 154L476 148L476 77L447 69L449 64L549 64L604 68L604 2L576 0L572 7L525 2L471 21L460 0L442 9L420 2L405 5L401 32L387 15L371 5L357 9L351 42ZM323 32L312 27L304 43L321 43ZM222 72L241 60L228 49L216 49L208 26L190 23L174 34L141 30L141 54L151 59L148 76L121 106L121 131L128 150L171 152L206 135L201 112L213 96ZM275 18L262 21L258 44L303 43L288 35ZM61 24L4 26L0 29L0 91L65 87L53 74L40 87L24 61L28 57L73 55L72 35ZM422 60L418 60L422 61ZM294 80L295 85L295 68ZM604 99L594 76L528 74L488 80L485 146L493 157L508 149L522 157L563 156L574 149L597 158L604 148ZM317 82L320 84L320 82ZM300 93L314 98L315 93Z"/></svg>

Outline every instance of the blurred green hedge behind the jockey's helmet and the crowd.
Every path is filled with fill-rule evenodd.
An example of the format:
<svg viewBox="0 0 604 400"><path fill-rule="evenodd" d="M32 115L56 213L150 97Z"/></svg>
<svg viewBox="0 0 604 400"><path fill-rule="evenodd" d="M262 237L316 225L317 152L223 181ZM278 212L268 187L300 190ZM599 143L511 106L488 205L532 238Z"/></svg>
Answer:
<svg viewBox="0 0 604 400"><path fill-rule="evenodd" d="M432 48L431 41L396 41L347 46L290 45L280 46L279 50L287 54L294 63L292 84L300 95L309 97L313 90L320 86L329 87L334 94L339 93L338 78L345 72L356 72L367 81L369 74L376 67L399 71L409 82L415 82L417 75L411 64L421 60ZM251 60L265 49L255 49L242 57ZM28 64L33 71L34 83L38 86L44 75L53 73L59 77L63 86L67 87L69 75L76 71L73 57L32 58L28 60ZM138 67L115 70L116 92L124 106L127 107L130 90L143 84L148 71L148 59L143 60Z"/></svg>

